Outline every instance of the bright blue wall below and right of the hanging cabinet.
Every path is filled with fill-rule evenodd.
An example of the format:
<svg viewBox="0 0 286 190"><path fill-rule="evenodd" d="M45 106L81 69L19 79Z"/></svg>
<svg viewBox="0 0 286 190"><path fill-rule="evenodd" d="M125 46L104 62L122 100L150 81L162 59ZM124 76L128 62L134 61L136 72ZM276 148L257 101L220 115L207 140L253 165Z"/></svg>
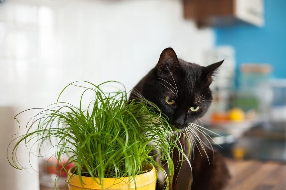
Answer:
<svg viewBox="0 0 286 190"><path fill-rule="evenodd" d="M275 78L286 78L286 0L264 0L265 26L215 28L216 45L235 48L236 62L269 63Z"/></svg>

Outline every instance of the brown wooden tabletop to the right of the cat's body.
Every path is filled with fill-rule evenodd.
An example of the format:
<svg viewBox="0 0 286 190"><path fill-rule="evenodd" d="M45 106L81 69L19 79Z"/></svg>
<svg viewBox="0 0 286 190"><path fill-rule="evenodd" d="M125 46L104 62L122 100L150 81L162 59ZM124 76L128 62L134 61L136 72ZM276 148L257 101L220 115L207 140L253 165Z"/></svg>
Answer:
<svg viewBox="0 0 286 190"><path fill-rule="evenodd" d="M225 190L286 190L285 163L232 159L226 161L231 181ZM45 187L40 189L51 190Z"/></svg>

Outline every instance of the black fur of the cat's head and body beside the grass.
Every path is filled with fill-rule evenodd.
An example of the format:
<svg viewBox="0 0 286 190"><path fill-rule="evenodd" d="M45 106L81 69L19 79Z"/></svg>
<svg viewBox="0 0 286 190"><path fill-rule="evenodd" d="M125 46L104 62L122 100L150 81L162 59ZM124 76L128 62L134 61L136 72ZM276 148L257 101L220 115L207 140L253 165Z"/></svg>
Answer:
<svg viewBox="0 0 286 190"><path fill-rule="evenodd" d="M212 82L213 74L222 63L223 61L207 67L188 63L178 59L172 48L166 48L161 53L157 65L134 87L130 99L139 97L138 94L143 95L144 98L155 103L168 116L170 124L182 130L206 113L212 101L209 85ZM168 105L166 96L171 97L175 103ZM190 111L190 107L196 106L200 106L198 111ZM180 142L187 141L181 139ZM184 161L181 171L175 171L172 189L189 189L191 181L192 190L223 189L229 179L229 172L223 157L217 152L213 154L212 150L205 148L209 156L209 159L207 159L207 156L203 154L203 147L198 142L197 145L192 150L191 155L194 156L189 158L192 173L188 163ZM187 144L183 147L186 151L188 150ZM178 152L174 151L172 158L174 163L178 164ZM163 188L164 184L160 185L158 183L156 186L156 189Z"/></svg>

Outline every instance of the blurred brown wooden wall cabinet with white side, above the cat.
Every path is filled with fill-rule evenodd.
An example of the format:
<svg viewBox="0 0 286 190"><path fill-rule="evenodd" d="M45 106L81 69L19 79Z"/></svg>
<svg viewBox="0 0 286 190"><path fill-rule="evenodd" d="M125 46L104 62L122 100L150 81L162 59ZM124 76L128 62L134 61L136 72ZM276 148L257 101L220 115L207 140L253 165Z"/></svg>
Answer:
<svg viewBox="0 0 286 190"><path fill-rule="evenodd" d="M184 17L198 26L264 25L263 0L184 0Z"/></svg>

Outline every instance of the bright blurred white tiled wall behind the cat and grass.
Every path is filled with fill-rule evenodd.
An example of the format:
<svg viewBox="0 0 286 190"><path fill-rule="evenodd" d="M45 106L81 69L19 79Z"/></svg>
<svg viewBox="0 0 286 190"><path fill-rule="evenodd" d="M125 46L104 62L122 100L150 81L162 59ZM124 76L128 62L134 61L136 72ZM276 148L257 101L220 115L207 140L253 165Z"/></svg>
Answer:
<svg viewBox="0 0 286 190"><path fill-rule="evenodd" d="M213 31L184 20L182 8L176 0L6 0L0 5L0 106L15 113L44 107L76 80L118 80L130 90L169 46L201 63ZM9 130L1 123L1 131Z"/></svg>

